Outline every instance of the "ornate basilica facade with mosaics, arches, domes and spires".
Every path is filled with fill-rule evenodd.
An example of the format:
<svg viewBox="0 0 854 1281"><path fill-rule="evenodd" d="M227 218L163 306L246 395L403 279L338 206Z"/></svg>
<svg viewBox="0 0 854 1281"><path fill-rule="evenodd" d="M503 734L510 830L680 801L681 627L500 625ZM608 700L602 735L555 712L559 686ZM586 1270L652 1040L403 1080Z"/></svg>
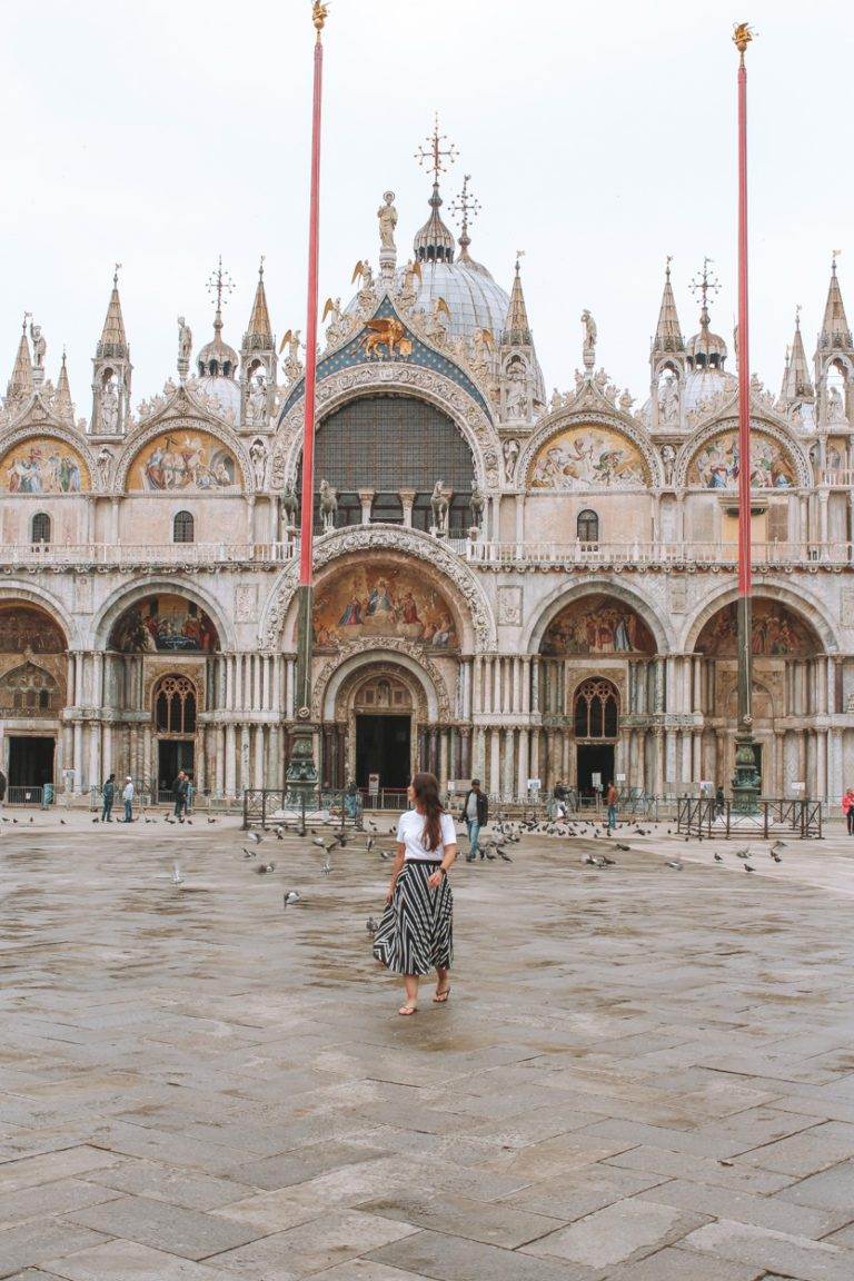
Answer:
<svg viewBox="0 0 854 1281"><path fill-rule="evenodd" d="M314 666L321 779L411 770L494 797L597 778L729 790L736 705L736 380L699 279L685 337L670 264L640 405L597 365L548 393L520 263L510 291L458 240L439 174L411 252L324 310ZM239 350L181 318L175 373L132 402L114 279L78 418L42 328L0 411L0 767L85 796L179 767L215 798L280 788L294 725L305 352L259 275ZM654 319L656 300L650 300ZM580 309L579 309L580 310ZM566 370L554 371L556 377ZM754 735L764 796L854 780L854 343L836 263L808 363L754 378ZM563 382L567 379L563 377ZM88 395L87 395L88 400Z"/></svg>

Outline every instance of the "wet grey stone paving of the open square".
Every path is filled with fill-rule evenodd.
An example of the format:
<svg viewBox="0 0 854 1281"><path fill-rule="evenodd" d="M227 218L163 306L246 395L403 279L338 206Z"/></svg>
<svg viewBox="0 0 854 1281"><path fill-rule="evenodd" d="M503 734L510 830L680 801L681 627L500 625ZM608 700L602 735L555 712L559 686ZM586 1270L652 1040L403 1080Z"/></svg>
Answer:
<svg viewBox="0 0 854 1281"><path fill-rule="evenodd" d="M854 845L625 843L457 865L402 1020L364 838L4 824L0 1277L850 1281Z"/></svg>

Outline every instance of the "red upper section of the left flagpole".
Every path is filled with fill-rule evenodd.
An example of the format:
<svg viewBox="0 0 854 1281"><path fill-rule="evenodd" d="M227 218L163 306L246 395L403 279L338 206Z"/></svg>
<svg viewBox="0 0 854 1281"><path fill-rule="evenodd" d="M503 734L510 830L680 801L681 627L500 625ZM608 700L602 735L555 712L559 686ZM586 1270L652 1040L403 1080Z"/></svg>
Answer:
<svg viewBox="0 0 854 1281"><path fill-rule="evenodd" d="M318 380L318 254L320 223L320 104L323 90L323 41L325 5L315 4L318 31L314 49L314 101L311 108L311 199L309 205L309 295L306 302L305 427L302 441L302 494L300 503L300 585L311 585L314 555L314 437L315 386Z"/></svg>

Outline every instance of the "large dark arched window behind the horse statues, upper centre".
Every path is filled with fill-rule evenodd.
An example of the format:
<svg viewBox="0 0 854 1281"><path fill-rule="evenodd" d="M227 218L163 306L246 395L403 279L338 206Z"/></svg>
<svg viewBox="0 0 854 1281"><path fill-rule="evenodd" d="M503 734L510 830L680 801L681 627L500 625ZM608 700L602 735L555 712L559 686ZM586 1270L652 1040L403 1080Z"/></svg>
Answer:
<svg viewBox="0 0 854 1281"><path fill-rule="evenodd" d="M338 526L360 524L359 491L374 493L371 519L402 523L402 489L412 489L412 525L433 524L430 494L437 480L452 491L448 525L463 534L471 524L469 502L474 460L453 419L415 396L362 396L334 410L318 425L315 453L315 528L320 529L316 491L321 479L338 491ZM301 492L302 474L297 478Z"/></svg>

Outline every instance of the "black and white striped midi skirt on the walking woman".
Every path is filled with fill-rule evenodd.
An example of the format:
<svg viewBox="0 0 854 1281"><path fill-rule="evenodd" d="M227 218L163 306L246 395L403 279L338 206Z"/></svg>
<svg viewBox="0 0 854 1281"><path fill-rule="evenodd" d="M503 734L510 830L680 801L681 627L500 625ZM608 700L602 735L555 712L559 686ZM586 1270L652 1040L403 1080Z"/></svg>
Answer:
<svg viewBox="0 0 854 1281"><path fill-rule="evenodd" d="M453 894L447 876L428 881L438 863L410 860L374 935L374 956L394 974L449 970L453 961Z"/></svg>

